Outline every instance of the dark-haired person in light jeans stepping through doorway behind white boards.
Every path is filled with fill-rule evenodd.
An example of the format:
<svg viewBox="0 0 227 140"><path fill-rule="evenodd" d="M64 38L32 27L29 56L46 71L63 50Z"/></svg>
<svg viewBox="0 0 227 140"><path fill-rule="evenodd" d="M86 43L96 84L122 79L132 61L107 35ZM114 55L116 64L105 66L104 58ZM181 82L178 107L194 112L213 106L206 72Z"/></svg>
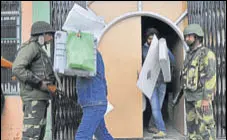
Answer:
<svg viewBox="0 0 227 140"><path fill-rule="evenodd" d="M146 42L143 45L142 48L142 58L143 62L146 59L150 44L152 42L152 39L156 35L156 37L159 39L159 32L155 28L148 28L146 31ZM168 55L171 60L171 65L174 65L175 58L174 55L171 53L171 51L168 49ZM160 70L159 76L152 94L151 99L149 99L152 115L151 119L149 121L149 127L148 132L154 133L153 137L164 137L166 136L166 127L162 116L162 105L166 94L166 83L164 82L163 73ZM152 118L154 119L154 122L152 121ZM152 123L155 124L155 127L152 126Z"/></svg>

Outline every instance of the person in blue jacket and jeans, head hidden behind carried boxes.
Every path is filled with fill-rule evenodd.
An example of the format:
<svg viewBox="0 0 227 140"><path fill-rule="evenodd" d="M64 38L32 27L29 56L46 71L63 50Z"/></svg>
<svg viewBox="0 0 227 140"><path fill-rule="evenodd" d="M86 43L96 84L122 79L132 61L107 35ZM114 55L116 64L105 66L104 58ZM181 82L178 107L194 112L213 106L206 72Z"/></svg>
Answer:
<svg viewBox="0 0 227 140"><path fill-rule="evenodd" d="M107 84L104 62L97 50L97 74L94 77L78 77L76 81L78 103L83 117L76 132L75 140L113 140L104 120L107 110Z"/></svg>

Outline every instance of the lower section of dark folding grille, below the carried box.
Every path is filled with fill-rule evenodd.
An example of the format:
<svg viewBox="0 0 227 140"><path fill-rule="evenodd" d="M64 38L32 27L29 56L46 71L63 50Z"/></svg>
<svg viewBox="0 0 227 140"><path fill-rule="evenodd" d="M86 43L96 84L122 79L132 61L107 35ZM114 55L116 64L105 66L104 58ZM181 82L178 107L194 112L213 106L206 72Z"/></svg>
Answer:
<svg viewBox="0 0 227 140"><path fill-rule="evenodd" d="M64 96L57 95L52 100L52 138L74 140L82 117L82 110L76 103L75 78L63 77L61 83Z"/></svg>

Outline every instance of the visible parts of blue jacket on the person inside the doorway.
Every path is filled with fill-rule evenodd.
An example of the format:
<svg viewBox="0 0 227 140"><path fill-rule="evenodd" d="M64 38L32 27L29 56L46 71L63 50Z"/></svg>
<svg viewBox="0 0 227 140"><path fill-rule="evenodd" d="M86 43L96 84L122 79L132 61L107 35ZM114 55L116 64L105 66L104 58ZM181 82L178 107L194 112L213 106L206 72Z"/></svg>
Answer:
<svg viewBox="0 0 227 140"><path fill-rule="evenodd" d="M142 48L143 62L145 61L148 50L149 50L149 45L146 42L146 43L144 43L143 48ZM172 52L169 50L169 48L168 48L168 55L169 55L169 58L170 58L171 65L175 65L175 57L172 54ZM156 86L159 86L160 84L163 84L163 83L165 83L164 77L163 77L162 71L160 71L160 73L158 75L157 82L156 82Z"/></svg>

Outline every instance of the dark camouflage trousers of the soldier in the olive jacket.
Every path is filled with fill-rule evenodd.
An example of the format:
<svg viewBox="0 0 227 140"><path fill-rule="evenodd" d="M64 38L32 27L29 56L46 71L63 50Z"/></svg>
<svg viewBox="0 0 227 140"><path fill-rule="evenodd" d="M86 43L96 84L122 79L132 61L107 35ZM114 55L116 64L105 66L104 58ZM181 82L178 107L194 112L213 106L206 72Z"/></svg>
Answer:
<svg viewBox="0 0 227 140"><path fill-rule="evenodd" d="M22 140L43 140L48 105L48 100L23 102L24 128Z"/></svg>

